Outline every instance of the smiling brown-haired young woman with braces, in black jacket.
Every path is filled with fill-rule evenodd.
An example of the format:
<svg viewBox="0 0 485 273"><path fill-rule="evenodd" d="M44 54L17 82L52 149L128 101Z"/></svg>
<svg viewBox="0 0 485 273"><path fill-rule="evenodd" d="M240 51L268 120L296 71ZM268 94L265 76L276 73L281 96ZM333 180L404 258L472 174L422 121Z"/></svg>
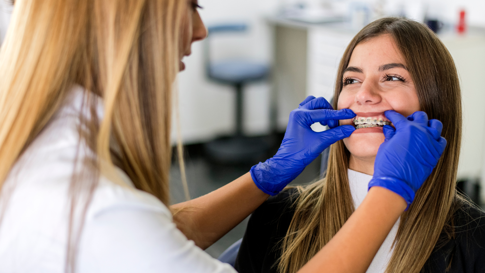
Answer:
<svg viewBox="0 0 485 273"><path fill-rule="evenodd" d="M356 113L340 120L356 131L331 146L324 179L285 189L252 214L236 269L296 273L314 256L364 199L385 139L382 126L389 122L384 111L395 110L404 116L424 111L440 120L448 144L367 272L485 272L485 213L455 189L462 124L458 75L436 34L402 17L376 20L351 41L337 75L334 108Z"/></svg>

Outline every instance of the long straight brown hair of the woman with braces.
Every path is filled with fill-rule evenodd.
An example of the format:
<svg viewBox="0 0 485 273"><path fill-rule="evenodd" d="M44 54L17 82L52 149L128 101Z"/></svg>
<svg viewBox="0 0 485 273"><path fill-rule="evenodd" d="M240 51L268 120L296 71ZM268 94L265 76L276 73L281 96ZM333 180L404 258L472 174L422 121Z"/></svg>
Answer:
<svg viewBox="0 0 485 273"><path fill-rule="evenodd" d="M340 61L334 93L337 106L343 71L352 51L376 36L389 34L403 54L416 86L420 109L443 123L447 146L436 168L401 216L388 273L418 273L442 231L453 237L450 221L455 204L456 172L461 144L461 94L458 74L448 50L425 25L403 17L378 19L352 39ZM335 108L336 109L336 108ZM342 140L330 149L326 177L300 187L295 213L282 240L280 273L296 273L339 231L354 211L347 169L350 153Z"/></svg>

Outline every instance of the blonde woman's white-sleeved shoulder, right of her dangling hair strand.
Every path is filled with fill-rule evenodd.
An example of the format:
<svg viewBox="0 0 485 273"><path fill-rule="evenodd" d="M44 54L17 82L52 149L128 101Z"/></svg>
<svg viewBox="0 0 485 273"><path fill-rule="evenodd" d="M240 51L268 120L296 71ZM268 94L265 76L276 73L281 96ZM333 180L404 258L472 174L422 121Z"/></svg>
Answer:
<svg viewBox="0 0 485 273"><path fill-rule="evenodd" d="M81 273L235 273L188 240L155 196L106 178L86 214L79 259Z"/></svg>

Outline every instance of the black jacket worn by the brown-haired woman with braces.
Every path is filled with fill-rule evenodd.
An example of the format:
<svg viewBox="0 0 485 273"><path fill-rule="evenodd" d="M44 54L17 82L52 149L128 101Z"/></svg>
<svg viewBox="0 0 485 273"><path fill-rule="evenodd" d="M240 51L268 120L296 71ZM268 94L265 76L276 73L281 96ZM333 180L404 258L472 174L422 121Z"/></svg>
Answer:
<svg viewBox="0 0 485 273"><path fill-rule="evenodd" d="M235 268L239 273L277 273L280 241L293 217L296 189L270 197L251 215ZM485 273L485 213L469 205L456 210L454 239L443 234L422 273Z"/></svg>

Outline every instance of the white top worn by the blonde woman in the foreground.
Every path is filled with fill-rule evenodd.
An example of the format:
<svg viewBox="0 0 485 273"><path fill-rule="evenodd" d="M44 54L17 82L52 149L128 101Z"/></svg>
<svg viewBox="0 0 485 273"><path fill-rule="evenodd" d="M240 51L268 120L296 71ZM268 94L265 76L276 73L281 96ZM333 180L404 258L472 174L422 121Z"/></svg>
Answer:
<svg viewBox="0 0 485 273"><path fill-rule="evenodd" d="M82 92L80 86L73 88L5 181L2 194L10 199L0 199L5 209L0 273L65 272L68 185L79 142ZM126 187L101 177L95 190L80 239L77 273L236 273L188 240L162 202L134 188L118 171Z"/></svg>

